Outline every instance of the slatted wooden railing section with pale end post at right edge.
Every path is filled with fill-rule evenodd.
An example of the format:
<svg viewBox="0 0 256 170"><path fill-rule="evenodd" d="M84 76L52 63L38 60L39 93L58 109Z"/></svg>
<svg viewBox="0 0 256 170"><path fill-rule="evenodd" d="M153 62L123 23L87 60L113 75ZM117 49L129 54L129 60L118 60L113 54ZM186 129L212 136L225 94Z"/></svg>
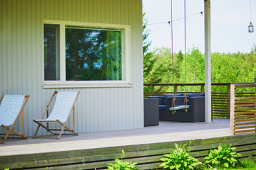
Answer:
<svg viewBox="0 0 256 170"><path fill-rule="evenodd" d="M253 89L255 93L237 93L241 88ZM256 132L256 84L231 84L230 113L233 134Z"/></svg>

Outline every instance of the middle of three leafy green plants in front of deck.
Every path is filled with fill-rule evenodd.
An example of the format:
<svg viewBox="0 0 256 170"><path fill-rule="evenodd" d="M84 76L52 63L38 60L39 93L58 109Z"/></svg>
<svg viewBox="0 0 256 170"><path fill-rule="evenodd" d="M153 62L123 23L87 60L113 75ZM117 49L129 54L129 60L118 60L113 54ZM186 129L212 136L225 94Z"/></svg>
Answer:
<svg viewBox="0 0 256 170"><path fill-rule="evenodd" d="M198 165L201 165L202 162L199 162L198 159L189 156L191 152L191 140L189 140L188 148L187 144L182 147L178 144L175 144L176 149L170 154L164 154L160 160L163 162L159 167L163 169L176 169L176 170L186 170L193 169Z"/></svg>

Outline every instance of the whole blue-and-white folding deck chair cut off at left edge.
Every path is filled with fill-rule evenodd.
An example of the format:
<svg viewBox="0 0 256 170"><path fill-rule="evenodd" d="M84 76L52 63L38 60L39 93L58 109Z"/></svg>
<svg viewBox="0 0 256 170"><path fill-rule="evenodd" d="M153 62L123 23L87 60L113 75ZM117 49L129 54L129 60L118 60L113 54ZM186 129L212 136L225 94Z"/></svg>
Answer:
<svg viewBox="0 0 256 170"><path fill-rule="evenodd" d="M2 128L8 130L6 133L1 133L1 138L3 140L0 143L4 143L7 137L10 136L18 136L18 137L10 137L10 138L23 138L25 137L24 132L24 121L23 121L23 108L28 101L29 95L4 95L1 96L0 99L0 125ZM14 130L14 125L18 120L18 116L21 115L22 121L22 135ZM11 126L11 127L10 127ZM10 128L9 128L10 127ZM4 137L2 137L4 135Z"/></svg>

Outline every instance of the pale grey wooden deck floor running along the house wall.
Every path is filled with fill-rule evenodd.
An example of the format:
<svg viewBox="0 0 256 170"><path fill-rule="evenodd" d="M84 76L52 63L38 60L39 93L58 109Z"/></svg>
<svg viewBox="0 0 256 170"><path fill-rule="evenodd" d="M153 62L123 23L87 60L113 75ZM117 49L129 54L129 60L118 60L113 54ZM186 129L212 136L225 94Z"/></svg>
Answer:
<svg viewBox="0 0 256 170"><path fill-rule="evenodd" d="M196 140L229 135L231 135L229 119L214 118L212 123L160 122L159 126L145 127L137 130L89 132L80 133L78 136L63 135L60 137L60 140L32 139L31 137L28 137L28 140L8 139L4 145L0 145L0 157L190 139Z"/></svg>

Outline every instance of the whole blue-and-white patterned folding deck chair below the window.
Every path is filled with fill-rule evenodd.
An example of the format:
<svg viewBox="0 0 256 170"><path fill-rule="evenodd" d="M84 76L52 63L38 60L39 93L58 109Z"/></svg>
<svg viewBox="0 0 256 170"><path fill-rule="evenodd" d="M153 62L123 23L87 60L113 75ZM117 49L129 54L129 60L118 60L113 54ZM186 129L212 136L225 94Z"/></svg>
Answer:
<svg viewBox="0 0 256 170"><path fill-rule="evenodd" d="M40 127L45 128L53 135L58 135L58 139L60 139L60 135L63 134L63 131L70 131L73 133L73 135L78 135L78 133L75 132L75 101L77 101L78 99L79 92L80 91L55 91L52 98L50 98L50 102L46 108L45 113L43 114L43 118L41 120L33 120L35 123L38 124L38 128L36 129L33 138L36 137L36 133L38 132ZM50 115L48 116L50 103L53 101L55 95L56 99L53 106L53 111L51 111ZM68 118L70 117L72 111L73 130L66 126L66 124L68 123ZM43 125L43 123L46 123L46 125ZM51 129L49 128L49 123L60 123L63 128ZM60 133L54 133L53 131L60 131Z"/></svg>

